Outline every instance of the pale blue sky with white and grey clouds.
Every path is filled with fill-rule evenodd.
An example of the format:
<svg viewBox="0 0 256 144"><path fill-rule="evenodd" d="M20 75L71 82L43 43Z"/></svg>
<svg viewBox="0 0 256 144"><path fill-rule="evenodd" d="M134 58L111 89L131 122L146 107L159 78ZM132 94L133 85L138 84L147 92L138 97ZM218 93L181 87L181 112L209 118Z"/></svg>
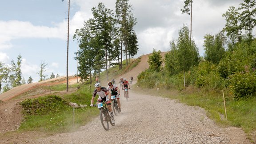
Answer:
<svg viewBox="0 0 256 144"><path fill-rule="evenodd" d="M239 7L243 0L193 0L192 39L204 56L204 36L215 35L225 27L222 16L229 6ZM70 0L70 28L68 75L77 73L76 29L92 18L93 7L104 3L115 12L116 0ZM190 15L180 9L184 0L129 0L137 19L134 28L139 44L135 58L152 53L153 49L167 52L170 42L178 37L178 30L188 25ZM10 65L22 56L22 78L33 82L40 77L40 64L47 64L44 75L67 74L68 0L2 0L0 4L0 61Z"/></svg>

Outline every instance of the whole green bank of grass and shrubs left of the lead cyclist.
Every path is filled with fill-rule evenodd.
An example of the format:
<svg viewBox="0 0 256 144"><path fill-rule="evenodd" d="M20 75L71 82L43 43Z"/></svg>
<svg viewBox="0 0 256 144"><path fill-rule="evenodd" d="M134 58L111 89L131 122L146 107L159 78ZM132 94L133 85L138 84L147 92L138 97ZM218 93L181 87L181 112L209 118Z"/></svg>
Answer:
<svg viewBox="0 0 256 144"><path fill-rule="evenodd" d="M92 94L87 87L88 85L81 86L77 92L62 97L51 95L24 100L20 104L24 108L25 120L21 123L19 131L29 130L54 134L68 132L86 124L92 117L99 114L99 110L90 107L73 110L68 103L89 105Z"/></svg>

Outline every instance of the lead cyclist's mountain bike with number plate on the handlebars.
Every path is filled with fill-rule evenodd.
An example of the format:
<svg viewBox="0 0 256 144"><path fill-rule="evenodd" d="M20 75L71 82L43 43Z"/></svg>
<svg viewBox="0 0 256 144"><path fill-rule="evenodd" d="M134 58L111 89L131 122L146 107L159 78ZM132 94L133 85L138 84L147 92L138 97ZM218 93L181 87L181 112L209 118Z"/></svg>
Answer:
<svg viewBox="0 0 256 144"><path fill-rule="evenodd" d="M115 126L115 124L111 121L111 116L109 113L109 110L107 108L107 104L103 101L102 103L97 104L97 107L100 109L100 122L103 126L103 128L107 131L109 129L108 122Z"/></svg>

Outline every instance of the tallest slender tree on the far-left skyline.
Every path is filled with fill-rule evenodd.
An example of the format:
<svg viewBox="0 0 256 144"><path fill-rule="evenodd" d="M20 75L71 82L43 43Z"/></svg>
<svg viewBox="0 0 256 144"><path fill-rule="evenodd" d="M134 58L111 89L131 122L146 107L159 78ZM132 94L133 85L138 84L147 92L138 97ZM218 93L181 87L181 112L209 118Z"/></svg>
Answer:
<svg viewBox="0 0 256 144"><path fill-rule="evenodd" d="M13 87L19 86L21 84L20 83L20 81L21 81L21 62L22 62L21 56L19 55L17 57L17 59L18 60L17 60L16 64L13 60L11 62L12 63L11 70L15 74L15 81L14 81Z"/></svg>

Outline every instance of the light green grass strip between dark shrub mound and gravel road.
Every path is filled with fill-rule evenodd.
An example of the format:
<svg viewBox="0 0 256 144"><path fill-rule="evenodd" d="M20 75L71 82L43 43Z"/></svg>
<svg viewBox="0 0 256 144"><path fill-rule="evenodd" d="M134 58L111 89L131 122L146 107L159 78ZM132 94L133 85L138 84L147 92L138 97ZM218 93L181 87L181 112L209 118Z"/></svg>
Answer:
<svg viewBox="0 0 256 144"><path fill-rule="evenodd" d="M55 114L25 116L25 121L20 125L19 131L39 131L48 134L68 132L76 130L81 125L88 123L91 118L98 114L98 109L87 107L74 109L73 115L73 108L70 107Z"/></svg>

